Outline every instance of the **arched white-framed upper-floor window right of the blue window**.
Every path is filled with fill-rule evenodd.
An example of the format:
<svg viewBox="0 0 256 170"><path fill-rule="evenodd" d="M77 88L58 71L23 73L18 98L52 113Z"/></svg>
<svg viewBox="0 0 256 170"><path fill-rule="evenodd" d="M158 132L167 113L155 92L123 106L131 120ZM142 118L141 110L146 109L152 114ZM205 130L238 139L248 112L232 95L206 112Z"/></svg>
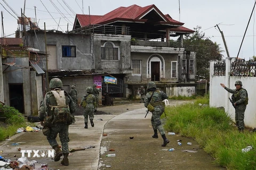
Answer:
<svg viewBox="0 0 256 170"><path fill-rule="evenodd" d="M119 47L107 42L101 46L101 60L119 60Z"/></svg>

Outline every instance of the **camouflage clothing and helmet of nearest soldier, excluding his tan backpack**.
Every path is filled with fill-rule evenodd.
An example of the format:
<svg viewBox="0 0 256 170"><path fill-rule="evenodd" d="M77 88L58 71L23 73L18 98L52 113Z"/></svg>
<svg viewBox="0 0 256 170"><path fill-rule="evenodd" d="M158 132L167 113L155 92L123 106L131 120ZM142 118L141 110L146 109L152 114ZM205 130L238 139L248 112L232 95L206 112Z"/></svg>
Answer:
<svg viewBox="0 0 256 170"><path fill-rule="evenodd" d="M63 91L63 84L62 81L58 78L54 78L50 81L50 88L51 90L54 91L62 91L63 94L65 94L65 100L63 102L66 103L66 106L69 107L70 114L76 112L76 105L74 104L73 100L71 97ZM57 100L55 99L53 92L47 92L45 95L44 101L42 102L39 110L39 120L41 121L41 125L46 125L51 123L51 130L50 134L47 135L47 140L52 146L52 148L55 150L55 156L54 156L54 161L57 162L60 160L60 157L64 155L63 160L61 161L62 165L69 165L68 162L68 154L69 154L69 149L68 149L68 126L70 122L66 123L56 123L58 120L53 119L51 122L47 122L45 120L46 114L47 116L53 116L54 115L54 107L58 107L57 105ZM67 108L68 108L67 107ZM53 116L54 117L54 116ZM73 122L72 122L73 123ZM56 141L57 135L59 133L59 138L61 142L61 148L59 148L58 142Z"/></svg>

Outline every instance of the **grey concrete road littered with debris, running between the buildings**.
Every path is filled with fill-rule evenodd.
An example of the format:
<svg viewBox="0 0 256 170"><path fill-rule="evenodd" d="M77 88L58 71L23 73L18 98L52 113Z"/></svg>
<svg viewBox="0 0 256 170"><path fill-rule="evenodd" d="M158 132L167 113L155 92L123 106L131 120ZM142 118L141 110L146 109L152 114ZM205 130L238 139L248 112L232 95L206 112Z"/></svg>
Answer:
<svg viewBox="0 0 256 170"><path fill-rule="evenodd" d="M180 103L182 101L170 101L170 105ZM98 110L107 110L110 115L95 115L94 128L89 125L89 129L84 129L83 116L76 116L75 124L69 126L69 148L95 148L71 152L69 166L61 166L60 162L54 162L47 157L28 160L48 164L50 169L225 169L214 165L213 158L192 139L166 134L170 143L166 147L161 147L163 140L160 136L158 139L151 138L151 113L144 118L146 108L143 104L106 106ZM107 136L103 136L103 133ZM42 132L23 132L10 139L0 143L0 150L3 150L3 157L11 160L21 157L18 148L51 149ZM177 145L177 140L182 140L182 146ZM17 142L25 143L12 145ZM189 146L187 142L193 144ZM175 148L175 151L168 151L170 148ZM106 157L107 154L116 156Z"/></svg>

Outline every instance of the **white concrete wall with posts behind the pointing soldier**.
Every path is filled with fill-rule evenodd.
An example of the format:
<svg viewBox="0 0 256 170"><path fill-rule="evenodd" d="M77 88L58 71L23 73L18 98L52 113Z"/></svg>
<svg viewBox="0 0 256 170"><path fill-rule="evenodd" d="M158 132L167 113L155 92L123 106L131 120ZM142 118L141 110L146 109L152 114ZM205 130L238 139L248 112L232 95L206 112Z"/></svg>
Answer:
<svg viewBox="0 0 256 170"><path fill-rule="evenodd" d="M235 122L235 109L230 103L228 97L231 98L229 92L220 86L220 83L225 84L230 89L235 89L235 82L237 80L242 81L243 88L247 90L249 97L249 104L245 110L244 123L248 128L256 127L256 105L254 104L254 98L256 94L256 88L253 88L253 84L256 84L255 77L236 77L227 76L230 72L230 61L226 60L226 76L213 75L213 64L215 61L211 61L210 64L210 106L211 107L225 107L226 113Z"/></svg>

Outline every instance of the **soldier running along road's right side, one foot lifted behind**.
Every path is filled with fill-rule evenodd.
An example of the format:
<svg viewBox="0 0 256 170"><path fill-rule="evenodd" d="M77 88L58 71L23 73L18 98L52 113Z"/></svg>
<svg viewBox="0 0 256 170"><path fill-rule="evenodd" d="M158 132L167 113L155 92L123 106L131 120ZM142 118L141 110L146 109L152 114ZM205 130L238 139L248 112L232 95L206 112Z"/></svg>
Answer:
<svg viewBox="0 0 256 170"><path fill-rule="evenodd" d="M168 96L164 92L156 89L155 82L149 82L147 87L147 94L144 101L144 106L148 107L148 105L150 104L154 107L154 111L152 112L151 117L151 124L154 130L154 135L152 136L152 138L158 138L158 130L164 140L162 147L165 147L167 143L170 142L165 137L164 127L160 120L160 116L164 113L164 99L168 99Z"/></svg>

